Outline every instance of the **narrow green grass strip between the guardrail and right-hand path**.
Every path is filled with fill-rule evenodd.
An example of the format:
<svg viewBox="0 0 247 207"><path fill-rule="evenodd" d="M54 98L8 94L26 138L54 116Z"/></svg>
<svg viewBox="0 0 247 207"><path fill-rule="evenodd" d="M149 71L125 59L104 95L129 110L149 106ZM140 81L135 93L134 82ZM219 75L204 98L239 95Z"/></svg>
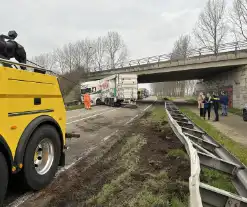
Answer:
<svg viewBox="0 0 247 207"><path fill-rule="evenodd" d="M187 115L196 125L204 129L208 135L223 145L228 151L235 155L243 164L247 165L247 146L235 142L230 137L224 135L213 125L201 119L197 114L187 108L180 108L181 112Z"/></svg>

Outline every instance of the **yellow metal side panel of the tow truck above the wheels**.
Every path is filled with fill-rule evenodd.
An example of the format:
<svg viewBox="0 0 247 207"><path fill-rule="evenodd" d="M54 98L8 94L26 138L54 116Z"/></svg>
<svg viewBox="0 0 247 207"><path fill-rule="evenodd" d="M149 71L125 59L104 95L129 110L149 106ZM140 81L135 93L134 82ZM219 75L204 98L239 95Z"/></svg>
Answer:
<svg viewBox="0 0 247 207"><path fill-rule="evenodd" d="M41 98L41 104L34 105L34 98ZM0 66L0 134L6 139L13 157L27 125L43 114L13 117L8 114L46 109L54 110L43 114L54 118L65 135L66 112L57 78Z"/></svg>

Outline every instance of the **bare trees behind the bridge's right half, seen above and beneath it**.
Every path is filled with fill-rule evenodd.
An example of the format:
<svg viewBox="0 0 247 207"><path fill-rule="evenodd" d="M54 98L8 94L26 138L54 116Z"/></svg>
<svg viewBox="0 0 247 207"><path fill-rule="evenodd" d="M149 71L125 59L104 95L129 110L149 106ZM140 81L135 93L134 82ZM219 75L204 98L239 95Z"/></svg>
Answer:
<svg viewBox="0 0 247 207"><path fill-rule="evenodd" d="M193 41L192 41L193 40ZM171 59L188 57L193 44L218 54L226 40L247 41L247 1L234 0L229 10L225 0L208 0L192 34L182 35L174 43ZM194 93L197 80L152 84L156 94L164 96L184 96Z"/></svg>

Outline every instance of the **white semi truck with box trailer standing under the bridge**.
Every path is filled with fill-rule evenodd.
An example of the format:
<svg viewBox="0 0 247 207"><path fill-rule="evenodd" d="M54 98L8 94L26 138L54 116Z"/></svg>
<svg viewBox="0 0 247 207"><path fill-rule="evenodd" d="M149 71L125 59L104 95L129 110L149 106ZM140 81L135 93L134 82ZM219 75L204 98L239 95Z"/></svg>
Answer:
<svg viewBox="0 0 247 207"><path fill-rule="evenodd" d="M135 74L115 74L98 81L81 84L81 97L90 94L93 105L106 104L120 106L123 103L135 104L137 100L138 82Z"/></svg>

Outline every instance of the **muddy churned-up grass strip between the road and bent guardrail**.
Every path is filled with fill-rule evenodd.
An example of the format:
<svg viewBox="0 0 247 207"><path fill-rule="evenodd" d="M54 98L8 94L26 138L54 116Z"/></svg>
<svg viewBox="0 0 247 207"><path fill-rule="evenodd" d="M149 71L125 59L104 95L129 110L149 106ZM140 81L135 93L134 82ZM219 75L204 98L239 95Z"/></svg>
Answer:
<svg viewBox="0 0 247 207"><path fill-rule="evenodd" d="M21 206L188 206L188 156L156 106Z"/></svg>

